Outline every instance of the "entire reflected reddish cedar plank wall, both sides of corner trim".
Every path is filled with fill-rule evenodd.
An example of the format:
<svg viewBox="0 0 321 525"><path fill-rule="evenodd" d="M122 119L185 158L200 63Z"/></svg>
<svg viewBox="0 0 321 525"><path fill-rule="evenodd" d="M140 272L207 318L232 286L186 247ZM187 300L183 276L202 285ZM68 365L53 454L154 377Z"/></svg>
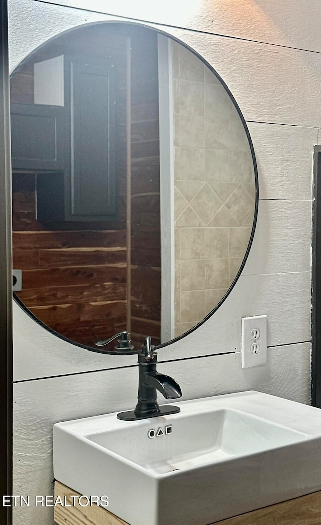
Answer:
<svg viewBox="0 0 321 525"><path fill-rule="evenodd" d="M80 53L73 38L67 35L64 46L70 53ZM17 296L51 329L94 346L95 341L127 328L130 295L134 344L140 346L147 334L157 344L161 291L157 35L151 33L147 43L135 28L131 31L131 291L126 290L126 40L103 30L95 38L102 41L93 40L93 56L106 44L117 56L119 217L115 222L40 223L36 220L36 175L14 173L13 267L23 270L23 290ZM146 47L149 54L142 62ZM36 61L50 58L50 52L42 50ZM32 103L33 71L27 62L15 75L12 101Z"/></svg>

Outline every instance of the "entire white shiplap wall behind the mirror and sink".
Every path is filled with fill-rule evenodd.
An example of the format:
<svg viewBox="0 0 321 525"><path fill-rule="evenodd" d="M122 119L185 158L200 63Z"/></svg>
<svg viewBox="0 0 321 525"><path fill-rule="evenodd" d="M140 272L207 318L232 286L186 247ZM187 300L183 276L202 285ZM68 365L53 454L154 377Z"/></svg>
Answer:
<svg viewBox="0 0 321 525"><path fill-rule="evenodd" d="M160 351L159 369L180 383L183 399L254 388L309 403L321 4L10 0L10 69L62 30L117 16L147 20L206 58L248 122L259 170L258 225L242 276L211 319ZM264 313L268 363L242 370L240 318ZM237 352L215 355L231 350ZM135 356L104 356L58 340L14 305L14 494L32 499L51 493L55 422L134 407L135 362ZM52 509L14 509L14 525L38 524L52 524Z"/></svg>

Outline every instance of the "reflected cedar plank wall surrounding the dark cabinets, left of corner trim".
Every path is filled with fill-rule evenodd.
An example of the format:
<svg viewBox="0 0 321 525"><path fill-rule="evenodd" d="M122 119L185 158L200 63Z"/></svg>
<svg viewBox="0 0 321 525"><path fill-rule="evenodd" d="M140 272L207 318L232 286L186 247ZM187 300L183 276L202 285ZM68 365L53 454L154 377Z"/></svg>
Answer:
<svg viewBox="0 0 321 525"><path fill-rule="evenodd" d="M51 329L94 346L126 329L126 46L101 29L87 40L67 34L38 52L35 61L69 50L96 60L112 49L117 62L118 218L104 222L40 223L36 220L36 175L13 174L13 267L23 270L17 296ZM96 41L97 40L97 41ZM58 46L58 47L57 47ZM61 48L59 48L61 46ZM14 102L34 100L32 61L10 81Z"/></svg>

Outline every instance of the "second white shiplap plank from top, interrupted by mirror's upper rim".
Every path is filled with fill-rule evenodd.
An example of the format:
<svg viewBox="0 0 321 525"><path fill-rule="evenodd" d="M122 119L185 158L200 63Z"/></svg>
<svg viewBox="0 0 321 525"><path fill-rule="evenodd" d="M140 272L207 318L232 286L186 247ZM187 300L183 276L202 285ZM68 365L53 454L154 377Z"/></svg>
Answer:
<svg viewBox="0 0 321 525"><path fill-rule="evenodd" d="M24 20L24 27L20 27L19 19ZM39 29L39 19L46 19L46 27ZM12 5L10 68L35 46L61 30L104 19L116 18L33 0L27 0L24 13L20 4L17 3L16 8ZM318 127L321 121L321 107L317 102L321 93L321 54L159 24L153 26L183 40L216 69L238 101L246 120ZM30 34L35 35L32 45ZM28 46L25 41L29 42ZM301 71L301 75L297 75L297 71Z"/></svg>

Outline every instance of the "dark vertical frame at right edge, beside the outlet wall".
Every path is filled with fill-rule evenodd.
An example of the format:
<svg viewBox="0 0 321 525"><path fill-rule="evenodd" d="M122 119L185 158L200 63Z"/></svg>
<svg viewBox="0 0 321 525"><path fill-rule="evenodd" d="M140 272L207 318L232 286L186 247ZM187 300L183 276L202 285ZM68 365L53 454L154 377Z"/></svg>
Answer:
<svg viewBox="0 0 321 525"><path fill-rule="evenodd" d="M312 405L321 408L321 145L314 146L312 229Z"/></svg>

